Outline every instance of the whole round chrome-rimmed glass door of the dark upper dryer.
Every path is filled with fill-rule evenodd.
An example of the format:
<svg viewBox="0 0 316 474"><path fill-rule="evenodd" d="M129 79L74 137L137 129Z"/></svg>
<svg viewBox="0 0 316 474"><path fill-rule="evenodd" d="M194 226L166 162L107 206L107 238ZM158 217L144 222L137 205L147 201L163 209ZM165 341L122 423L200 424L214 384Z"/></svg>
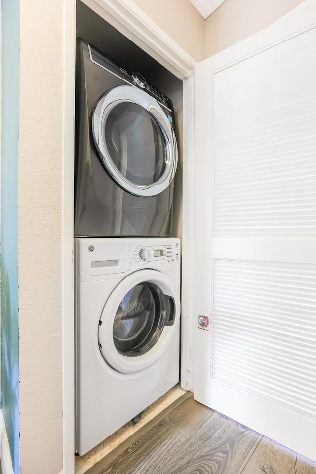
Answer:
<svg viewBox="0 0 316 474"><path fill-rule="evenodd" d="M92 132L102 163L125 191L156 196L177 168L173 128L158 102L141 89L119 86L96 105Z"/></svg>

